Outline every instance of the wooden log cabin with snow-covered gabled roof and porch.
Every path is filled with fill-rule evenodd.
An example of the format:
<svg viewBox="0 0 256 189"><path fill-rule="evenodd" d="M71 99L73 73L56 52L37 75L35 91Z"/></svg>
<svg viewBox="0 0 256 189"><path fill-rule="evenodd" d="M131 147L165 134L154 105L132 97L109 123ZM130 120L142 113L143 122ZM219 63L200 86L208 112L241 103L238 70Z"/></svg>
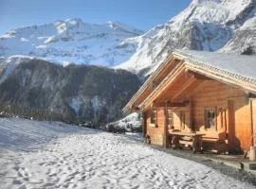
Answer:
<svg viewBox="0 0 256 189"><path fill-rule="evenodd" d="M217 152L256 146L256 56L176 50L123 108L147 142Z"/></svg>

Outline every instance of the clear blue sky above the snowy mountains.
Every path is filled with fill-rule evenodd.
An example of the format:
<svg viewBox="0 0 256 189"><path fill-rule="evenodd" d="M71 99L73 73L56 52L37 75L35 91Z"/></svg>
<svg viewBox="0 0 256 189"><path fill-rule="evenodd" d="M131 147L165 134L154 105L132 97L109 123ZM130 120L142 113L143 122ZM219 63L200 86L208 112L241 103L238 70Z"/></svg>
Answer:
<svg viewBox="0 0 256 189"><path fill-rule="evenodd" d="M192 0L0 0L0 34L19 26L82 18L86 23L119 21L140 29L164 24Z"/></svg>

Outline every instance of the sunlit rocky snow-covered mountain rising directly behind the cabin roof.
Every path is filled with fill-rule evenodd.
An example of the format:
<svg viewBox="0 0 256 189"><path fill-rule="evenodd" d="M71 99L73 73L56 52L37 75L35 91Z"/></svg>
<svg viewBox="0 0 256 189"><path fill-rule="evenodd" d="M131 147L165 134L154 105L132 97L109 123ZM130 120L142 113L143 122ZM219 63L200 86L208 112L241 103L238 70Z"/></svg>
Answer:
<svg viewBox="0 0 256 189"><path fill-rule="evenodd" d="M124 41L137 52L117 66L147 76L174 48L256 52L256 0L193 0L167 24Z"/></svg>

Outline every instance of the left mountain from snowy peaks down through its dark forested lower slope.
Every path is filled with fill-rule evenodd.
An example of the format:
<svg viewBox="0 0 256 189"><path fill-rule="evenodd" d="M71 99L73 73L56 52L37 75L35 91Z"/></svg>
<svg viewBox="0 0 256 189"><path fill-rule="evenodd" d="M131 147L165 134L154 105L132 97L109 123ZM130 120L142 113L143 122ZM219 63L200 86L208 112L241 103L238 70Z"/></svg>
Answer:
<svg viewBox="0 0 256 189"><path fill-rule="evenodd" d="M140 85L137 76L70 63L110 67L129 60L137 46L122 42L141 34L121 23L92 25L81 19L7 32L0 36L0 113L93 126L115 121Z"/></svg>

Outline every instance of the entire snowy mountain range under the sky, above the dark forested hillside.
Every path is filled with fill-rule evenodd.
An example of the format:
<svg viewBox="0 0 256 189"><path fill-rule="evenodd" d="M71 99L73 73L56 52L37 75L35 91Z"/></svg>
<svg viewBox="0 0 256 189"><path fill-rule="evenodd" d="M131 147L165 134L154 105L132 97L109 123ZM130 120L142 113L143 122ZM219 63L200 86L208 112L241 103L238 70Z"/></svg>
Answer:
<svg viewBox="0 0 256 189"><path fill-rule="evenodd" d="M30 55L64 65L121 68L147 77L175 48L254 54L256 0L193 0L166 24L146 32L119 22L97 25L82 19L39 27L0 36L0 57ZM20 32L31 28L37 33Z"/></svg>

